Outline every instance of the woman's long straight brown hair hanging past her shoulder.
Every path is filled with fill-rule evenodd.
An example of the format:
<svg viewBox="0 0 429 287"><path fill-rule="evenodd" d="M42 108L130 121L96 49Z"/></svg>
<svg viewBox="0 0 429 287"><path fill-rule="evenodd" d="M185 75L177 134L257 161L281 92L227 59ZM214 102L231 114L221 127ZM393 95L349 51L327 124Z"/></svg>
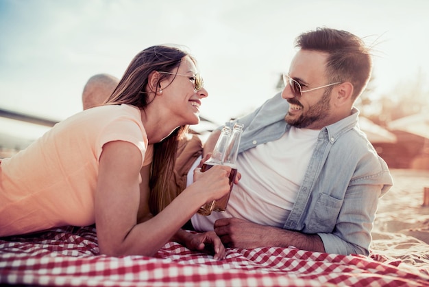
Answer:
<svg viewBox="0 0 429 287"><path fill-rule="evenodd" d="M149 87L149 75L153 71L174 72L182 59L188 56L196 64L195 58L183 49L175 46L157 45L140 51L127 67L117 88L106 100L106 104L131 104L143 110L149 104L149 93L155 92ZM159 82L171 75L160 73ZM158 83L156 84L158 87ZM149 91L149 93L147 92ZM154 144L154 160L151 165L149 188L149 209L153 215L164 208L169 196L169 179L173 178L177 145L188 126L176 128L171 135Z"/></svg>

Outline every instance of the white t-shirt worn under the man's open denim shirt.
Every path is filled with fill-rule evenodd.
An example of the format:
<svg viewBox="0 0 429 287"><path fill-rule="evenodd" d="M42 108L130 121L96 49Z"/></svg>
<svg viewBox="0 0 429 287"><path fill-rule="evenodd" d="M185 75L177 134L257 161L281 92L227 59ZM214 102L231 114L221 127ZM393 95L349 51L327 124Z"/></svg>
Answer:
<svg viewBox="0 0 429 287"><path fill-rule="evenodd" d="M243 218L283 227L315 148L319 130L292 127L280 139L238 154L241 180L234 185L226 211L191 218L197 231L213 230L219 218Z"/></svg>

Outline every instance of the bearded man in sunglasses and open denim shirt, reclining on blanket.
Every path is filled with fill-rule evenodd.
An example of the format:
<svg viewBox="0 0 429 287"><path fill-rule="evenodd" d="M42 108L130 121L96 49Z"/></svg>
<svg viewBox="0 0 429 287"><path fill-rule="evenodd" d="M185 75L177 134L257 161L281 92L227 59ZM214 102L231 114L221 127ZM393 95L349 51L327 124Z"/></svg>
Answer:
<svg viewBox="0 0 429 287"><path fill-rule="evenodd" d="M282 93L236 120L245 126L241 180L227 210L197 214L193 227L214 229L230 247L368 255L378 198L393 184L353 106L371 76L369 50L329 28L298 36L296 46Z"/></svg>

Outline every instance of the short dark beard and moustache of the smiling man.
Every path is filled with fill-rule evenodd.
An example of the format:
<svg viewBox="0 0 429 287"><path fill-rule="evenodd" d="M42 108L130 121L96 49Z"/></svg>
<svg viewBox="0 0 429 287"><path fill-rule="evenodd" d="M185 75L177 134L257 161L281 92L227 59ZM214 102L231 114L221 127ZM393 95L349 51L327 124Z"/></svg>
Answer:
<svg viewBox="0 0 429 287"><path fill-rule="evenodd" d="M307 112L302 113L297 119L288 117L288 113L286 114L286 117L284 117L284 120L291 126L295 126L295 128L306 128L313 122L317 122L319 119L323 119L323 117L326 117L330 111L330 93L330 89L328 89L328 91L325 91L319 102L317 102L314 106L311 106ZM302 104L298 100L296 100L295 97L293 99L288 100L288 102L290 104L297 104L299 106L302 106Z"/></svg>

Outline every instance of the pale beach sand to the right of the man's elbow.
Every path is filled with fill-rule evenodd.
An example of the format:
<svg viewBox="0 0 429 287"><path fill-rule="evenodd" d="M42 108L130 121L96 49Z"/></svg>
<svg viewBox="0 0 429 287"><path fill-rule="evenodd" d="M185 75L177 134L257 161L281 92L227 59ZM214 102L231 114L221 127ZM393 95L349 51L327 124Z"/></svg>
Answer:
<svg viewBox="0 0 429 287"><path fill-rule="evenodd" d="M371 251L429 270L429 170L391 170L393 187L380 198Z"/></svg>

